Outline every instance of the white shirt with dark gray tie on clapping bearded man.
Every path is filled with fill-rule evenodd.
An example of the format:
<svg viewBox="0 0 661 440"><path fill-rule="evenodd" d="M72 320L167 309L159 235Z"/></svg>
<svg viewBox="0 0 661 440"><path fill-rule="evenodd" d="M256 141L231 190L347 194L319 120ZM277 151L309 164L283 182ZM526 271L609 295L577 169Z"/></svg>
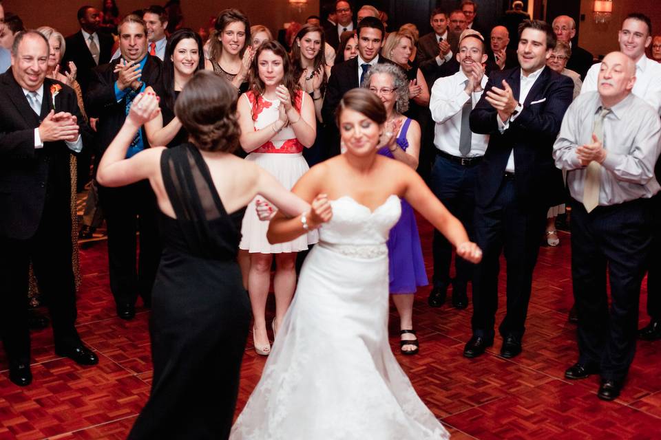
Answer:
<svg viewBox="0 0 661 440"><path fill-rule="evenodd" d="M461 137L461 111L469 99L472 108L480 100L487 84L487 76L482 77L482 90L474 91L468 96L464 89L468 78L460 69L452 76L445 76L436 80L432 86L432 95L429 100L429 109L434 126L434 146L445 153L461 157L459 152L459 139ZM487 150L489 135L472 133L470 137L470 153L468 157L483 156Z"/></svg>

